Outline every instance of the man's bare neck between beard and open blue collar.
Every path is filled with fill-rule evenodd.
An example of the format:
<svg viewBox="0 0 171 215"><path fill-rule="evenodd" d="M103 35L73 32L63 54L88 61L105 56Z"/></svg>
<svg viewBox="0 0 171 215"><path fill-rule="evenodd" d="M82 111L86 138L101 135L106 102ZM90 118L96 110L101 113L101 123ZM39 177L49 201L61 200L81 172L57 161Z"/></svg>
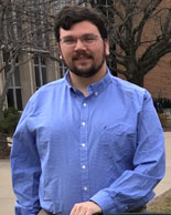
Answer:
<svg viewBox="0 0 171 215"><path fill-rule="evenodd" d="M73 88L79 90L85 96L88 96L87 86L92 83L97 83L100 81L107 73L106 64L103 65L103 68L93 76L89 78L83 78L74 74L73 72L70 72L71 76L71 84Z"/></svg>

